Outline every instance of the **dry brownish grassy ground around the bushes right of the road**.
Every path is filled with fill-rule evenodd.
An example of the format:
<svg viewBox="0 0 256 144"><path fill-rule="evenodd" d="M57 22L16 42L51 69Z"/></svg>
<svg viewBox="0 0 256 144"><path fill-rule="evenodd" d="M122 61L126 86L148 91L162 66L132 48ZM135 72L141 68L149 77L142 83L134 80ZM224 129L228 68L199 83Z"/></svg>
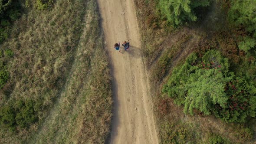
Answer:
<svg viewBox="0 0 256 144"><path fill-rule="evenodd" d="M215 42L207 39L208 36L211 37L211 34L207 33L209 29L204 31L201 26L172 29L155 15L154 0L135 0L135 4L138 7L137 17L141 29L141 44L145 46L145 61L151 71L151 84L153 87L159 88L152 89L151 92L155 95L153 98L154 111L161 143L205 144L210 137L219 136L229 139L228 141L231 143L254 143L254 140L249 140L246 137L245 128L242 125L227 124L213 116L202 116L199 112L196 112L197 115L194 116L184 115L182 107L174 105L171 98L161 94L162 85L167 82L174 66L182 64L193 51L202 53L207 48L217 47ZM208 23L207 26L213 26L213 24ZM219 40L219 38L217 39ZM232 44L226 43L230 46ZM224 55L225 52L228 53L227 51L229 50L222 49ZM230 54L229 58L236 59L236 57L238 56Z"/></svg>

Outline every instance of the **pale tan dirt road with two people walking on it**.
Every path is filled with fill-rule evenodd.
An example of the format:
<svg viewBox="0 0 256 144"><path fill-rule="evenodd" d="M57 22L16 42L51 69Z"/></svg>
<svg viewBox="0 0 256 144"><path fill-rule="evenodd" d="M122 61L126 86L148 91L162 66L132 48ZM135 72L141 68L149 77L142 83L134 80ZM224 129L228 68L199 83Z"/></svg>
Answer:
<svg viewBox="0 0 256 144"><path fill-rule="evenodd" d="M98 0L114 82L112 144L158 144L133 0ZM118 52L114 43L130 40ZM121 46L122 48L122 46Z"/></svg>

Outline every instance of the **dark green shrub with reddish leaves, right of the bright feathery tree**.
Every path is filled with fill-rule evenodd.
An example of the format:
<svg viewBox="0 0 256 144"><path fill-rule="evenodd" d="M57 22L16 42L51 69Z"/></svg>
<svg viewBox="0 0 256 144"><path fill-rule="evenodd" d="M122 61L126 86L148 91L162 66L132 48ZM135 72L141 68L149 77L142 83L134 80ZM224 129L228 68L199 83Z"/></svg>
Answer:
<svg viewBox="0 0 256 144"><path fill-rule="evenodd" d="M244 122L246 117L256 115L256 88L243 78L236 78L224 88L228 100L226 107L215 105L214 115L225 121Z"/></svg>

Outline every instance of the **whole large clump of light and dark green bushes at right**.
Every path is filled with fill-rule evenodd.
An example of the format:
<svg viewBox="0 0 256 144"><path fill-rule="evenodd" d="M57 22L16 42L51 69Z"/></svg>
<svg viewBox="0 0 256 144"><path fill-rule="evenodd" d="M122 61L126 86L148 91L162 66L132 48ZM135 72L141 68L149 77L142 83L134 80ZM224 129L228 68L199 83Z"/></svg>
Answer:
<svg viewBox="0 0 256 144"><path fill-rule="evenodd" d="M217 50L206 52L201 59L191 54L173 70L163 92L176 104L184 104L184 113L191 115L194 108L230 122L244 122L247 116L256 115L256 88L229 72L228 60Z"/></svg>

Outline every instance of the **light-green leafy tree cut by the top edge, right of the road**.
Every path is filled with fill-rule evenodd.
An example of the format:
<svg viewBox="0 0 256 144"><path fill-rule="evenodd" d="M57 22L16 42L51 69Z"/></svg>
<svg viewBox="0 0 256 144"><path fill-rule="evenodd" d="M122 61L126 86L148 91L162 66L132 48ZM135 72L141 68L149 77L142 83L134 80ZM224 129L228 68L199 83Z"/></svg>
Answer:
<svg viewBox="0 0 256 144"><path fill-rule="evenodd" d="M209 6L210 0L160 0L158 9L173 26L196 21L196 9Z"/></svg>

